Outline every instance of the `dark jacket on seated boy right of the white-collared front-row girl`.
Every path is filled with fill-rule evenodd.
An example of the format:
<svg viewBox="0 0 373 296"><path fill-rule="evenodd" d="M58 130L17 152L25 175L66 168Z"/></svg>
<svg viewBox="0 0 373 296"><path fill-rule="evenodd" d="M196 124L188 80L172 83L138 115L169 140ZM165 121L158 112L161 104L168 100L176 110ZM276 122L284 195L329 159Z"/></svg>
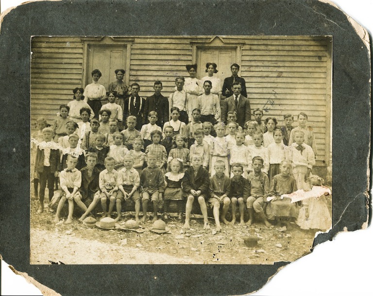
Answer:
<svg viewBox="0 0 373 296"><path fill-rule="evenodd" d="M196 177L194 177L194 169L190 167L186 170L183 177L183 189L184 192L190 193L191 190L201 190L207 198L207 194L210 188L210 178L207 170L201 166L198 170Z"/></svg>

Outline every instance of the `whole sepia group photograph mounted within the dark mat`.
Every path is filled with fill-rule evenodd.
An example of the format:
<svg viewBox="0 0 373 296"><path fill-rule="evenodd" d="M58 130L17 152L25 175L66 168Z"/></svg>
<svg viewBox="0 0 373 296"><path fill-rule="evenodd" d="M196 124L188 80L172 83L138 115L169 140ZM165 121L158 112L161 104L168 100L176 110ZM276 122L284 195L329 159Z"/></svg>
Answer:
<svg viewBox="0 0 373 296"><path fill-rule="evenodd" d="M332 226L329 35L32 36L31 264L273 264Z"/></svg>

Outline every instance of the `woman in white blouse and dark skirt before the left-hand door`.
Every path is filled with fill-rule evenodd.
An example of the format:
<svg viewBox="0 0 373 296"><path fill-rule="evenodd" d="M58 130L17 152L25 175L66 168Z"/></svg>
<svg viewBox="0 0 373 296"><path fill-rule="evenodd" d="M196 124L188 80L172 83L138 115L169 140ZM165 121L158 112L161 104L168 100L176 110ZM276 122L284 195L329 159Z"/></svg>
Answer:
<svg viewBox="0 0 373 296"><path fill-rule="evenodd" d="M92 108L94 116L99 118L99 112L102 107L101 100L106 97L105 87L99 84L99 79L102 76L100 70L95 69L92 71L92 83L88 84L84 90L84 101Z"/></svg>

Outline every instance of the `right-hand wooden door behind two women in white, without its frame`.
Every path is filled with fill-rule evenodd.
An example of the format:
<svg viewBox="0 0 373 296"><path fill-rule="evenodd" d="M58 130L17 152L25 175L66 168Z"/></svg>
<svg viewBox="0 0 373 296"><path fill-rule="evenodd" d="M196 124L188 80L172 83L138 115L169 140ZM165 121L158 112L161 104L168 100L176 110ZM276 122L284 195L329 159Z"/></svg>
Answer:
<svg viewBox="0 0 373 296"><path fill-rule="evenodd" d="M224 78L232 75L231 65L237 63L237 47L204 47L197 50L197 77L207 76L206 63L218 65L218 73L214 74L223 83Z"/></svg>

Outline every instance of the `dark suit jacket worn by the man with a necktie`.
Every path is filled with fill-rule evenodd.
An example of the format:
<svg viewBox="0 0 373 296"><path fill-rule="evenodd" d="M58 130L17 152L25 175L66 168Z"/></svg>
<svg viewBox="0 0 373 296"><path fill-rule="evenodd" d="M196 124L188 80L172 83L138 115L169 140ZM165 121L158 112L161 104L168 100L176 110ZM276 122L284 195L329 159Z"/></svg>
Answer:
<svg viewBox="0 0 373 296"><path fill-rule="evenodd" d="M248 98L240 95L238 100L238 106L236 109L236 103L233 96L225 99L223 101L223 107L221 110L221 121L227 121L227 115L229 111L236 111L237 112L237 123L242 128L244 127L245 123L251 120L251 108L250 108L250 101Z"/></svg>

